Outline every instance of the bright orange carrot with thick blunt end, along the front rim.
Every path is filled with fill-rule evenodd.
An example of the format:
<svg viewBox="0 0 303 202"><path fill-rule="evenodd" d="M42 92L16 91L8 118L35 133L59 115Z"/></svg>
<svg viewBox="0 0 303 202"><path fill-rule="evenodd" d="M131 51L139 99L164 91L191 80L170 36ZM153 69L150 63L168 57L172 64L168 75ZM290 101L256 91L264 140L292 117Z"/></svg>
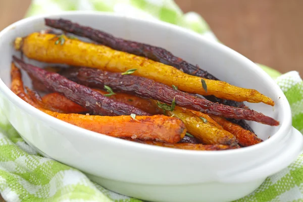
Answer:
<svg viewBox="0 0 303 202"><path fill-rule="evenodd" d="M48 115L87 130L113 137L160 140L168 143L180 141L186 133L185 126L181 120L163 115L136 116L135 118L132 118L130 116L109 117L61 114L45 110L25 93L21 72L14 64L12 64L11 77L12 91L25 100L25 102ZM29 93L33 95L30 90Z"/></svg>

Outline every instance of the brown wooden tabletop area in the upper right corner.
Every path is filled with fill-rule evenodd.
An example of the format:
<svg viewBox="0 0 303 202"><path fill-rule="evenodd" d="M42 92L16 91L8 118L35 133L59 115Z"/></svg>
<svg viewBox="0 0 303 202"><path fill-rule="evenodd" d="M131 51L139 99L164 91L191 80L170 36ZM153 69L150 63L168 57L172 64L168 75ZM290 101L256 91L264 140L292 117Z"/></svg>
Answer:
<svg viewBox="0 0 303 202"><path fill-rule="evenodd" d="M303 75L302 0L176 0L225 45L254 62Z"/></svg>

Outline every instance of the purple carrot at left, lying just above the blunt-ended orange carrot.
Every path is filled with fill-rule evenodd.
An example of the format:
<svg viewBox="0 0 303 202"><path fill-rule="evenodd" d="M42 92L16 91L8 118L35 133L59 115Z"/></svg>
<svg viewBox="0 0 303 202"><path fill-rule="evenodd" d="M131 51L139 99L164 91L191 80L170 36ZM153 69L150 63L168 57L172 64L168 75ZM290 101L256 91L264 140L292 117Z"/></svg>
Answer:
<svg viewBox="0 0 303 202"><path fill-rule="evenodd" d="M15 56L13 56L13 60L28 74L31 74L32 77L42 82L47 89L64 94L64 96L88 109L94 115L115 116L136 114L150 116L150 114L140 109L110 99L86 86L68 80L60 74L47 72L41 68L26 64Z"/></svg>

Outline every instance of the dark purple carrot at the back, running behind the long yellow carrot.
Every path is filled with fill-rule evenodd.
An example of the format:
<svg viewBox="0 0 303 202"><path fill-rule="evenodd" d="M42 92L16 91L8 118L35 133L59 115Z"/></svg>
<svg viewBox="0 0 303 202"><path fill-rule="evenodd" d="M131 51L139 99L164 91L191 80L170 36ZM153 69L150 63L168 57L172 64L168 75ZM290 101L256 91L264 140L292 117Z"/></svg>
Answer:
<svg viewBox="0 0 303 202"><path fill-rule="evenodd" d="M117 38L109 33L93 29L73 23L64 19L49 19L45 18L45 25L56 29L61 29L65 32L73 33L78 36L89 38L97 43L109 46L118 51L127 52L137 56L149 58L151 60L161 62L166 65L173 66L187 74L199 76L207 79L219 80L207 71L200 69L197 65L189 64L188 62L174 56L172 53L164 48L148 45L145 43L139 43L130 40L124 40ZM224 100L216 98L215 96L206 96L207 99L217 99L216 102L233 107L245 106L242 102L235 102L233 100Z"/></svg>

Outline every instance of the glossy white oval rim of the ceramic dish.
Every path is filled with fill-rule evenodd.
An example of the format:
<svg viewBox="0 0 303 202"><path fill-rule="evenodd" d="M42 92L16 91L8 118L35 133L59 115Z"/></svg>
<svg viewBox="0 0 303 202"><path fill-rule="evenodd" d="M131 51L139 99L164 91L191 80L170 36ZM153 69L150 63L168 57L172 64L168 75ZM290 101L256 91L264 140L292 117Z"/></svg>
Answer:
<svg viewBox="0 0 303 202"><path fill-rule="evenodd" d="M59 119L56 119L55 117L52 117L50 115L47 115L40 110L36 109L35 107L31 106L30 104L26 103L23 99L18 97L11 89L3 82L3 80L0 78L0 91L3 93L4 96L6 96L10 102L12 102L15 106L18 108L24 110L26 113L30 114L31 116L36 117L37 119L41 120L42 122L47 122L49 125L52 126L58 126L58 127L64 127L65 129L73 132L75 131L74 135L79 135L78 132L80 132L81 136L83 137L89 137L91 139L95 139L96 141L107 141L108 143L111 144L123 144L123 146L129 146L132 149L144 149L148 150L150 152L164 152L164 153L173 153L176 155L194 155L194 156L225 156L225 155L233 155L235 153L250 153L253 150L259 150L264 147L267 147L269 144L273 144L274 142L279 141L281 138L283 138L283 135L288 135L288 133L291 131L291 110L290 106L288 103L287 98L285 97L284 93L280 89L280 87L274 82L274 80L266 73L264 72L261 68L259 68L255 63L247 59L246 57L242 56L241 54L237 53L233 49L225 46L224 44L211 41L203 37L202 35L195 33L191 30L188 30L186 28L170 24L167 22L162 22L162 21L155 21L155 20L143 20L143 19L137 19L134 17L127 17L124 15L116 14L116 13L111 13L111 12L96 12L96 11L67 11L67 12L61 12L61 13L55 13L55 14L46 14L46 15L39 15L39 16L33 16L33 17L28 17L22 20L19 20L5 29L3 29L0 32L0 38L3 35L6 35L11 29L14 29L17 26L20 26L22 24L29 23L34 20L41 19L43 20L44 18L68 18L70 16L79 16L79 15L84 15L84 16L91 16L91 15L98 15L101 17L110 17L110 18L120 18L124 19L127 18L130 21L135 21L135 22L144 22L148 24L153 24L154 26L160 26L160 27L168 27L172 29L173 31L178 31L182 32L182 34L187 34L190 37L198 37L199 40L201 40L203 43L208 43L209 45L215 46L216 49L220 49L220 51L224 52L224 54L228 55L234 55L234 57L237 58L237 60L241 60L246 64L246 66L243 66L243 69L246 68L253 68L254 71L256 71L256 74L260 75L262 79L266 79L267 82L271 83L272 90L274 90L275 94L278 94L281 99L281 110L283 112L283 118L280 120L280 128L278 131L276 131L273 135L271 135L271 138L260 142L255 145L247 146L247 147L242 147L238 149L229 149L229 150L216 150L216 151L197 151L197 150L185 150L185 149L176 149L176 148L167 148L167 147L160 147L160 146L154 146L154 145L147 145L147 144L142 144L138 142L132 142L132 141L127 141L124 139L119 139L116 137L108 136L105 134L89 131L87 129L69 124L67 122L61 121Z"/></svg>

